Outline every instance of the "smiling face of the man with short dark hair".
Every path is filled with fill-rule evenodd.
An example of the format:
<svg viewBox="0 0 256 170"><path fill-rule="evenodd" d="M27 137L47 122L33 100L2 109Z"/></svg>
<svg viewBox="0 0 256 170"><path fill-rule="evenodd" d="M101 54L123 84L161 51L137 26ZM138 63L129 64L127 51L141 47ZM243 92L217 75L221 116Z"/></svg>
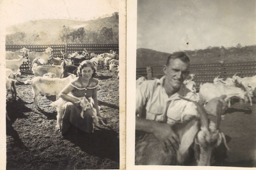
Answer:
<svg viewBox="0 0 256 170"><path fill-rule="evenodd" d="M189 74L189 63L181 59L171 59L168 66L164 65L163 70L166 75L166 85L172 89L179 89Z"/></svg>

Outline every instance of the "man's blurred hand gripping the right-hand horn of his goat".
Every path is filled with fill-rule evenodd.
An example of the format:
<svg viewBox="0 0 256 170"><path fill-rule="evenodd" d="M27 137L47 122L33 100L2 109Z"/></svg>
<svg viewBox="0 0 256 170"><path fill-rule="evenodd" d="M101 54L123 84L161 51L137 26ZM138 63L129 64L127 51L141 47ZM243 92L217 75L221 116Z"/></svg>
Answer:
<svg viewBox="0 0 256 170"><path fill-rule="evenodd" d="M211 99L206 106L204 106L204 109L206 110L207 114L216 116L216 112L217 112L217 104L219 101L221 101L222 103L222 114L225 113L225 111L227 110L227 102L225 102L223 99L225 99L227 97L227 95L221 95L220 97L216 97Z"/></svg>

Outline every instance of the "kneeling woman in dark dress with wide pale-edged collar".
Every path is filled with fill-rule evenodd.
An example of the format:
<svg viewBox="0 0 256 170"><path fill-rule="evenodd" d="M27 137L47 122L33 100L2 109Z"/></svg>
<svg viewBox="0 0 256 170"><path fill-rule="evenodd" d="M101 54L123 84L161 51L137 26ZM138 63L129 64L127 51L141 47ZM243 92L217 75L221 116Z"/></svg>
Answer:
<svg viewBox="0 0 256 170"><path fill-rule="evenodd" d="M95 79L96 76L96 68L91 61L83 61L78 67L78 77L75 78L72 82L70 82L63 90L61 90L60 97L64 100L68 101L63 106L63 117L62 117L62 128L61 134L63 136L67 135L67 130L70 124L75 125L79 129L84 132L91 133L93 131L93 123L92 123L92 110L87 109L83 113L83 118L81 118L81 108L79 108L76 104L74 104L78 99L70 97L67 95L71 93L75 97L83 97L85 96L90 102L90 98L92 98L92 102L94 108L97 110L97 115L99 117L99 106L97 99L97 86L99 85L99 80Z"/></svg>

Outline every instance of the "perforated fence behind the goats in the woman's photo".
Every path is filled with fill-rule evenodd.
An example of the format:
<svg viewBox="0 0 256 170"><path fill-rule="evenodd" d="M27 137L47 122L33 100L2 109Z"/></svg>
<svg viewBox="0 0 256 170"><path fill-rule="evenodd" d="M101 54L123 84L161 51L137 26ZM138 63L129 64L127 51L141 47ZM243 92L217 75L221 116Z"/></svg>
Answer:
<svg viewBox="0 0 256 170"><path fill-rule="evenodd" d="M61 51L63 53L82 53L86 49L89 53L94 52L95 54L108 53L110 50L117 51L119 53L118 44L50 44L50 45L6 45L5 51L17 51L21 48L28 48L30 51L42 52L46 48L50 47L53 49L53 57L60 57L63 59ZM29 62L24 62L20 71L30 71Z"/></svg>

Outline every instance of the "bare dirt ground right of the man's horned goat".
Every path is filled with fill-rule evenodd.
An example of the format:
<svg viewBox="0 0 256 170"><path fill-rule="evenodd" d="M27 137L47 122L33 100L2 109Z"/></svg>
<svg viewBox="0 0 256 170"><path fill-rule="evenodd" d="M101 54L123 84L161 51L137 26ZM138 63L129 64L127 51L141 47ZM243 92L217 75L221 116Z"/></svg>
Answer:
<svg viewBox="0 0 256 170"><path fill-rule="evenodd" d="M213 165L256 167L256 97L252 106L233 101L220 124L230 150L222 143L214 153Z"/></svg>

